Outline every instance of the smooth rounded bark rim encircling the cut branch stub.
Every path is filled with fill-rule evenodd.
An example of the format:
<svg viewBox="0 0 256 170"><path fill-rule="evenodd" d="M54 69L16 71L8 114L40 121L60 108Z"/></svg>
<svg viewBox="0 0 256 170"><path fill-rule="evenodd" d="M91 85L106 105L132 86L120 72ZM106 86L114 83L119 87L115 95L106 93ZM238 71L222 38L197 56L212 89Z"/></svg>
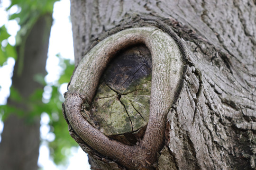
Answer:
<svg viewBox="0 0 256 170"><path fill-rule="evenodd" d="M150 116L140 144L128 146L110 140L92 127L83 119L81 109L82 104L91 103L110 59L119 50L137 43L144 43L152 55ZM67 119L77 135L97 152L128 169L148 169L163 143L166 115L174 102L182 74L182 54L170 35L155 27L120 31L99 42L79 63L65 94Z"/></svg>

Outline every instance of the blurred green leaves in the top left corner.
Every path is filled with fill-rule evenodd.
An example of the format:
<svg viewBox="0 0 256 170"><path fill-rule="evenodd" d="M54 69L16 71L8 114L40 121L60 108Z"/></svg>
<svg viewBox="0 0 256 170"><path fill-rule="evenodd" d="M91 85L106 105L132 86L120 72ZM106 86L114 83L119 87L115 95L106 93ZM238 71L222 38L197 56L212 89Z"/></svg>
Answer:
<svg viewBox="0 0 256 170"><path fill-rule="evenodd" d="M21 10L18 13L9 15L9 20L15 19L18 21L20 30L16 35L16 46L22 42L23 36L32 28L37 19L46 14L53 13L53 6L57 0L11 0L9 10L13 6L18 6ZM1 1L0 1L1 3ZM0 66L8 59L13 57L17 59L17 52L14 46L8 42L10 34L8 34L6 26L0 27Z"/></svg>

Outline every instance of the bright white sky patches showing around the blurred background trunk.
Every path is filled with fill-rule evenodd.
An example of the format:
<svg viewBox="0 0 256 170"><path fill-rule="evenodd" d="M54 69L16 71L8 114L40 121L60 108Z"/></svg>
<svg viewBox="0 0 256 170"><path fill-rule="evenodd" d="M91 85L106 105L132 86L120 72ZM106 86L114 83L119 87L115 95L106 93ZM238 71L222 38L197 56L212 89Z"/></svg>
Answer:
<svg viewBox="0 0 256 170"><path fill-rule="evenodd" d="M8 33L11 36L8 38L8 42L11 45L15 45L15 36L17 31L20 29L16 20L8 21L8 13L13 14L19 12L19 8L14 6L10 8L8 12L5 8L9 7L9 0L0 1L0 26L5 25L8 29ZM48 59L46 62L46 71L48 75L45 80L49 85L55 84L59 78L61 68L58 66L59 59L55 56L60 53L65 59L74 60L73 56L73 37L70 23L70 1L61 0L55 2L54 5L54 23L51 29ZM3 42L6 43L6 42ZM3 44L2 44L3 45ZM9 96L9 87L11 85L11 76L15 60L9 58L7 64L0 68L0 105L7 102ZM61 86L61 93L66 91L66 84ZM0 118L1 119L1 118ZM41 115L41 138L47 139L48 141L54 140L55 135L50 132L48 125L49 117L46 113ZM3 123L0 121L0 133L3 130ZM1 138L0 138L1 140ZM42 142L39 149L38 166L43 170L89 170L90 165L88 163L87 154L82 151L81 148L72 148L72 156L69 158L68 168L62 166L56 166L49 156L50 150L47 146L47 142Z"/></svg>

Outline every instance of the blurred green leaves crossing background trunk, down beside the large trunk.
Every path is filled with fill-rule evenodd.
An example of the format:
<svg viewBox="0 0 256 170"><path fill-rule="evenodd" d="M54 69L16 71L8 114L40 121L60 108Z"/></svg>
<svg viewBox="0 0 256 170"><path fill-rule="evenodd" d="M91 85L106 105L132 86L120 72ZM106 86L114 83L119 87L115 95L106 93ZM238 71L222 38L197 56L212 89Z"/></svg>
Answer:
<svg viewBox="0 0 256 170"><path fill-rule="evenodd" d="M25 117L27 123L31 123L35 116L41 115L43 112L47 113L50 118L50 132L55 134L55 140L46 140L49 142L50 154L56 164L65 165L67 163L67 158L71 153L71 147L78 146L78 144L69 135L68 126L63 117L62 102L64 102L64 97L63 94L60 93L60 87L62 84L67 84L70 81L74 65L69 59L63 59L60 55L57 55L57 57L59 58L59 66L61 66L63 71L58 82L54 85L46 85L45 81L43 82L43 85L47 86L45 91L43 89L37 89L28 100L23 100L15 88L10 88L11 93L9 99L22 103L22 105L29 106L30 111L27 114L25 114L26 111L10 105L0 106L0 113L3 121L9 114L16 113L21 117ZM39 78L40 76L36 77L37 79L40 79L38 82L42 82L41 78ZM44 99L42 97L43 93L50 94L50 98ZM42 98L44 102L42 102Z"/></svg>

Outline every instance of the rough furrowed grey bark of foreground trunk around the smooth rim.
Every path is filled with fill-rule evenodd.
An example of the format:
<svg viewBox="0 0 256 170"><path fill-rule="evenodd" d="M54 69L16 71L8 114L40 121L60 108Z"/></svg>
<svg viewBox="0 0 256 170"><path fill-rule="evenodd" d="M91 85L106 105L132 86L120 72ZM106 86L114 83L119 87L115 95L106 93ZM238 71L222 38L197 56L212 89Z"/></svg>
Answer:
<svg viewBox="0 0 256 170"><path fill-rule="evenodd" d="M182 82L165 121L164 142L150 168L256 168L255 13L254 0L71 0L76 66L98 42L128 28L152 26L179 45L184 56ZM136 50L132 53L140 55ZM111 68L108 71L113 72ZM148 75L151 73L144 77ZM108 82L105 77L101 80ZM113 85L109 87L117 93L114 99L121 101L123 94ZM91 119L91 125L101 130L103 124L93 113L96 102L84 103L81 109L85 108L85 119ZM71 136L90 154L92 169L137 169L92 148L69 127ZM132 129L114 139L140 145L143 134L134 136Z"/></svg>

